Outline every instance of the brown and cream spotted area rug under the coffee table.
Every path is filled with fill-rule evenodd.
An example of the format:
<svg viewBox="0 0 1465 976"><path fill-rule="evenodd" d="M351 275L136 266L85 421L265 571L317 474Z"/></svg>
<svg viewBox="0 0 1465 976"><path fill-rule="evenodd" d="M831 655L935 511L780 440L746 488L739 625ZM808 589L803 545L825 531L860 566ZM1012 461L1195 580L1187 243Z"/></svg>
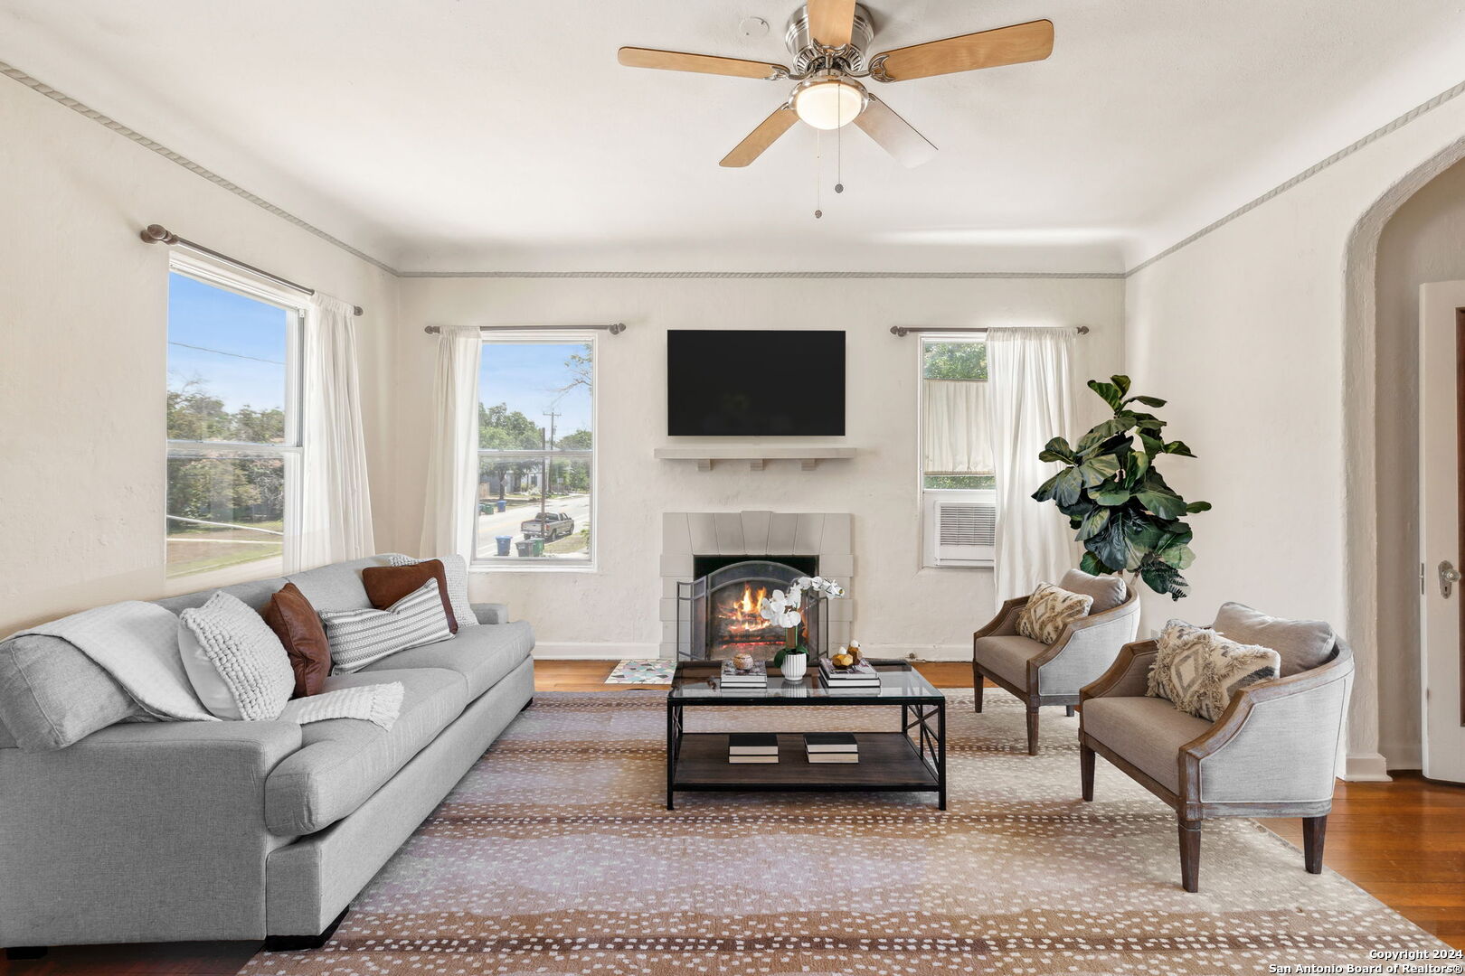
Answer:
<svg viewBox="0 0 1465 976"><path fill-rule="evenodd" d="M1264 973L1443 947L1251 821L1206 825L1185 894L1169 808L1103 759L1096 802L1078 799L1077 718L1045 710L1028 757L1015 699L989 691L977 716L970 691L948 698L945 814L898 793L681 793L668 812L661 695L542 694L331 942L242 972ZM889 729L898 711L754 721Z"/></svg>

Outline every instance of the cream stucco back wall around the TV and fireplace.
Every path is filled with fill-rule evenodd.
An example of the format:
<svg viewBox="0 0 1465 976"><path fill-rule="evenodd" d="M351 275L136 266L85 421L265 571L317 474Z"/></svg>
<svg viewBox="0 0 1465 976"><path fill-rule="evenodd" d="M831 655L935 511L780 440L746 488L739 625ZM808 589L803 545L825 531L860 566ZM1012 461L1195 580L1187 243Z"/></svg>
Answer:
<svg viewBox="0 0 1465 976"><path fill-rule="evenodd" d="M921 569L916 480L914 337L891 325L1088 325L1078 341L1080 378L1121 361L1124 282L1118 279L403 279L397 347L397 459L403 499L394 546L416 550L431 418L435 345L423 325L628 325L601 341L599 517L596 574L486 572L482 600L511 604L535 622L545 654L655 656L661 514L771 509L854 515L854 637L878 653L963 657L971 631L993 610L992 574ZM763 471L658 461L665 436L665 332L670 328L842 328L847 331L853 461ZM749 369L757 367L749 351ZM788 391L798 397L797 389ZM1086 399L1094 399L1084 394ZM1090 407L1091 408L1091 407Z"/></svg>

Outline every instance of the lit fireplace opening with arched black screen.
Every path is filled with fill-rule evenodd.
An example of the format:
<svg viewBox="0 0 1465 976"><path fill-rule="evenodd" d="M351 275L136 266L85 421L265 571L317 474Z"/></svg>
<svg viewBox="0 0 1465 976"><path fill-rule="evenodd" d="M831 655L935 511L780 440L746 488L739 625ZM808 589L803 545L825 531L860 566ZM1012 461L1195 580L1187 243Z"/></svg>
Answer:
<svg viewBox="0 0 1465 976"><path fill-rule="evenodd" d="M787 590L800 577L819 574L817 556L697 556L696 578L678 584L678 632L686 645L683 660L725 660L747 651L757 660L774 657L784 647L784 628L759 613L763 597ZM800 638L816 654L828 634L828 604L812 603L800 625ZM684 626L681 626L684 623Z"/></svg>

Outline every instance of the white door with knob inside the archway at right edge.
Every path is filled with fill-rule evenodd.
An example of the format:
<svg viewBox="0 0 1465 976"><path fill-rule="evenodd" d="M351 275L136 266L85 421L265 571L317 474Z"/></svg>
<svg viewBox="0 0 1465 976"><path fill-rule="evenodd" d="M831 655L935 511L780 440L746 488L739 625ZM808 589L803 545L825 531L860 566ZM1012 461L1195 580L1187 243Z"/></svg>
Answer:
<svg viewBox="0 0 1465 976"><path fill-rule="evenodd" d="M1465 783L1465 281L1420 287L1420 692L1424 776Z"/></svg>

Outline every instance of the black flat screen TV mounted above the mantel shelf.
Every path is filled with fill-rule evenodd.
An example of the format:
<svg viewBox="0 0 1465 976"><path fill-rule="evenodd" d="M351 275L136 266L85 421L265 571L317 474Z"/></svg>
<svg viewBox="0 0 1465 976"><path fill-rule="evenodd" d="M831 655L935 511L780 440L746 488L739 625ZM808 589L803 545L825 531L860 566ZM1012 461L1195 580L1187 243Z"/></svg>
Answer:
<svg viewBox="0 0 1465 976"><path fill-rule="evenodd" d="M667 433L844 436L844 332L671 329Z"/></svg>

